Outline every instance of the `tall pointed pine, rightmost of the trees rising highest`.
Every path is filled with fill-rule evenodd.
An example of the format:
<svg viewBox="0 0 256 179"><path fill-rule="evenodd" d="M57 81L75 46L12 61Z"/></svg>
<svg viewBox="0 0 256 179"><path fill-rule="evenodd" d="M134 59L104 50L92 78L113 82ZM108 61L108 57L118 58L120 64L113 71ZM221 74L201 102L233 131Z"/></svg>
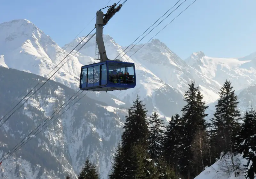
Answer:
<svg viewBox="0 0 256 179"><path fill-rule="evenodd" d="M215 141L217 158L222 151L234 152L235 136L239 130L240 112L237 110L237 96L231 86L231 82L226 80L220 88L220 99L215 106L214 117L212 118L212 132Z"/></svg>

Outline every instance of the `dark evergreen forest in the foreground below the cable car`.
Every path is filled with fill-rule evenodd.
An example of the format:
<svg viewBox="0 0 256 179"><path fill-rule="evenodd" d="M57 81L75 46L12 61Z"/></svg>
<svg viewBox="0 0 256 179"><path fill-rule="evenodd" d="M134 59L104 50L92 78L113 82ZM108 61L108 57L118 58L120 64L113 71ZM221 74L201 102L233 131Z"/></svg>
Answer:
<svg viewBox="0 0 256 179"><path fill-rule="evenodd" d="M195 82L185 93L182 115L172 116L168 125L154 112L147 117L145 104L137 96L128 110L124 131L112 163L109 179L193 179L222 159L221 173L256 176L256 111L247 109L242 117L230 81L219 90L214 117L205 118L208 106ZM236 155L243 154L241 164ZM68 176L67 176L68 178ZM96 166L86 159L78 179L98 179Z"/></svg>

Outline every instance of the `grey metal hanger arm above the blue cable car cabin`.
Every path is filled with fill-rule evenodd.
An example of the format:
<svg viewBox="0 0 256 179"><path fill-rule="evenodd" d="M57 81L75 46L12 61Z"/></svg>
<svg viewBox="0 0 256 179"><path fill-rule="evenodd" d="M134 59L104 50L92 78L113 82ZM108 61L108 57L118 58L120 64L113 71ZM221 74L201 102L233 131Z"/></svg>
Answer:
<svg viewBox="0 0 256 179"><path fill-rule="evenodd" d="M106 54L106 49L103 41L103 26L108 24L109 19L112 18L116 14L116 12L118 12L121 9L122 4L119 4L116 8L115 7L116 3L114 3L112 6L108 8L106 14L103 14L101 9L96 13L96 42L99 48L100 62L109 60Z"/></svg>

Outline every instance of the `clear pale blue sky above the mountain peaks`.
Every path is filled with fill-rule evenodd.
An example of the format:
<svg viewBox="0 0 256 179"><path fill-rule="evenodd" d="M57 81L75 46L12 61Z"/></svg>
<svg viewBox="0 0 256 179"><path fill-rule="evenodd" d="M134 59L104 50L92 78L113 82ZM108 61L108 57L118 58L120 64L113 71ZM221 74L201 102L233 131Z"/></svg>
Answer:
<svg viewBox="0 0 256 179"><path fill-rule="evenodd" d="M0 23L28 19L62 47L72 41L108 1L4 0L0 1ZM103 33L110 34L118 44L128 46L177 1L127 0ZM111 0L108 5L115 2L118 1ZM192 2L183 3L141 42L148 41ZM183 59L197 51L211 57L242 57L256 51L255 7L255 0L197 0L155 38ZM95 21L79 36L88 34Z"/></svg>

